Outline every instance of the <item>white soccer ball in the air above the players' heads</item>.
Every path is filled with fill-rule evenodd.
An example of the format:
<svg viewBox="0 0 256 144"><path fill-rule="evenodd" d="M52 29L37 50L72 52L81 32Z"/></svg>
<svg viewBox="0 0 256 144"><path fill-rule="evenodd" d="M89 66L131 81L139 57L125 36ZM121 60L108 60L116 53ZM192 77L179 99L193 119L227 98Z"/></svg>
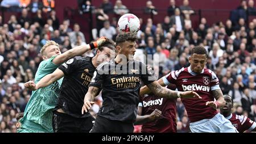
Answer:
<svg viewBox="0 0 256 144"><path fill-rule="evenodd" d="M139 22L139 18L136 15L125 14L119 18L117 27L119 32L137 33L141 27L141 23Z"/></svg>

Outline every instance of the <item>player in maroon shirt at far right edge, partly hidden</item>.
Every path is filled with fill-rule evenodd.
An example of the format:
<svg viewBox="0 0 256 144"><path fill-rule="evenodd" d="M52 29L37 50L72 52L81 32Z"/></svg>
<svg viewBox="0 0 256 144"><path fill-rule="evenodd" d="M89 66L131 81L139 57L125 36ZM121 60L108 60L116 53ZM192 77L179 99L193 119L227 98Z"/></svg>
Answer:
<svg viewBox="0 0 256 144"><path fill-rule="evenodd" d="M233 99L230 95L224 95L226 105L220 109L220 113L228 119L232 125L238 130L238 132L243 133L245 130L256 131L256 122L250 120L246 116L236 115L231 113L233 108Z"/></svg>

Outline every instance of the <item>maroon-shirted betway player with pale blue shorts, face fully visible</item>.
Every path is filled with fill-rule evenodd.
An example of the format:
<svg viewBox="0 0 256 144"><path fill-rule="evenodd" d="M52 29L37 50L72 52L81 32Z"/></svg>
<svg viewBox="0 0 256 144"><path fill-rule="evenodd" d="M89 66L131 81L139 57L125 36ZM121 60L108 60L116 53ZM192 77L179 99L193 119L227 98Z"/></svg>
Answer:
<svg viewBox="0 0 256 144"><path fill-rule="evenodd" d="M195 46L191 50L189 63L191 64L189 67L171 71L158 82L161 86L175 84L179 91L196 91L203 98L201 100L181 98L191 120L191 132L237 132L231 122L216 111L217 108L225 105L225 100L216 74L204 69L207 63L207 51L203 46ZM146 86L141 89L141 95L148 92Z"/></svg>

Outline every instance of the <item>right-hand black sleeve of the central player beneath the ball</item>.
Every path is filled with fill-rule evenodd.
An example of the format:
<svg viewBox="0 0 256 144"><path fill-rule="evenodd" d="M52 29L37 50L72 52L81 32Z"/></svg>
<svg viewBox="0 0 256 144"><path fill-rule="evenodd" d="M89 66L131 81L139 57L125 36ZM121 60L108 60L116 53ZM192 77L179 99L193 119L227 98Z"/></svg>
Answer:
<svg viewBox="0 0 256 144"><path fill-rule="evenodd" d="M154 71L150 68L148 69L147 66L140 62L141 63L141 79L143 81L144 84L150 84L154 81L156 81L156 77L155 77L155 74L154 74ZM143 72L146 72L146 73L143 73Z"/></svg>

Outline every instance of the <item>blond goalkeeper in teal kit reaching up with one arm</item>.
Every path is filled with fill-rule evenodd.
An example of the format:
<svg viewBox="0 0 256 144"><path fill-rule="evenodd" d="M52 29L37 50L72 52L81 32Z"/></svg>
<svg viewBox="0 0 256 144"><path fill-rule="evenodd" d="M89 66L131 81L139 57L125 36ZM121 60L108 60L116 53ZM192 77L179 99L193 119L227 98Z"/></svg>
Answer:
<svg viewBox="0 0 256 144"><path fill-rule="evenodd" d="M61 63L72 57L80 56L94 47L100 46L105 40L106 38L102 37L92 44L77 46L63 54L60 52L59 44L55 43L55 41L48 41L40 50L43 61L36 71L35 83L38 83L44 76L55 71ZM39 88L32 92L24 111L24 117L19 120L21 126L18 132L53 132L52 110L57 104L61 82L62 79L59 79L59 81L52 83L48 87ZM25 83L24 86L29 87L29 83Z"/></svg>

